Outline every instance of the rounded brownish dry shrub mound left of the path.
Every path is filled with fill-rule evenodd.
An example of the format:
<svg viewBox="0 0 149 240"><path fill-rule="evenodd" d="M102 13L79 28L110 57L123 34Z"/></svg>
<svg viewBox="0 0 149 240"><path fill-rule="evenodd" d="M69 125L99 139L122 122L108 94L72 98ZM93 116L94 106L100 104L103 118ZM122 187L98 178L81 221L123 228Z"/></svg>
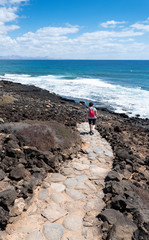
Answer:
<svg viewBox="0 0 149 240"><path fill-rule="evenodd" d="M0 125L0 131L13 133L25 145L42 151L55 148L66 149L79 142L79 137L70 128L56 121L43 122L27 120Z"/></svg>

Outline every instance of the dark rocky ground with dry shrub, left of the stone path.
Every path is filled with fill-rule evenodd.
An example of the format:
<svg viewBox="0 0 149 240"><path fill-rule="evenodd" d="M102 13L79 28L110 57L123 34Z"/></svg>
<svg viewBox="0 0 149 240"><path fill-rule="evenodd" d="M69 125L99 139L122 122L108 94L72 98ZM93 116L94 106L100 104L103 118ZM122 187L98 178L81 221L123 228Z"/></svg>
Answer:
<svg viewBox="0 0 149 240"><path fill-rule="evenodd" d="M81 148L75 131L80 105L34 86L0 82L0 228L16 199L27 203L48 172L58 172ZM84 107L83 107L84 108Z"/></svg>

